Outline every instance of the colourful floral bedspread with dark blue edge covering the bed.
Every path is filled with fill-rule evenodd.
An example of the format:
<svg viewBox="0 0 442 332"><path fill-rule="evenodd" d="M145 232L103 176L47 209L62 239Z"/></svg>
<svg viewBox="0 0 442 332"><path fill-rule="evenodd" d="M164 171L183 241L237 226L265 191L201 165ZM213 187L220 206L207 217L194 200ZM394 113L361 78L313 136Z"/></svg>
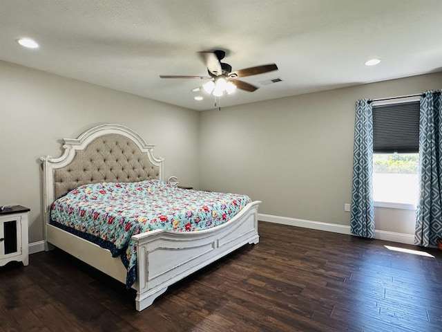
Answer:
<svg viewBox="0 0 442 332"><path fill-rule="evenodd" d="M94 183L52 203L50 223L120 256L129 288L136 279L133 235L159 228L205 230L225 223L250 202L245 195L184 190L159 180Z"/></svg>

